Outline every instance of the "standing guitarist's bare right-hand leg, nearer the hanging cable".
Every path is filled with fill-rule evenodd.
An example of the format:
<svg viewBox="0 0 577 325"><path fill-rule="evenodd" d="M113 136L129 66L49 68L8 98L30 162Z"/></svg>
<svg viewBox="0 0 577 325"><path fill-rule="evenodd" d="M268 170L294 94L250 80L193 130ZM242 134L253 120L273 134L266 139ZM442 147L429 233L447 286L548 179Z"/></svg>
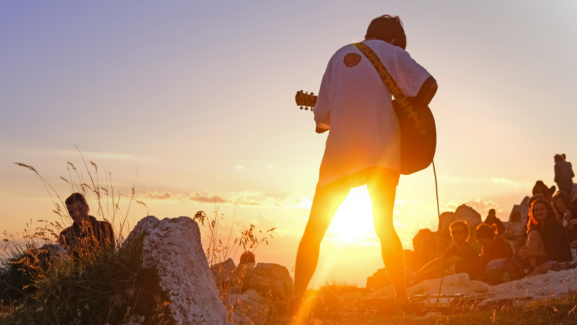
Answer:
<svg viewBox="0 0 577 325"><path fill-rule="evenodd" d="M398 175L393 172L378 173L369 179L367 188L373 202L374 230L381 241L383 262L395 287L395 302L401 304L407 301L407 285L403 245L393 226L397 179Z"/></svg>

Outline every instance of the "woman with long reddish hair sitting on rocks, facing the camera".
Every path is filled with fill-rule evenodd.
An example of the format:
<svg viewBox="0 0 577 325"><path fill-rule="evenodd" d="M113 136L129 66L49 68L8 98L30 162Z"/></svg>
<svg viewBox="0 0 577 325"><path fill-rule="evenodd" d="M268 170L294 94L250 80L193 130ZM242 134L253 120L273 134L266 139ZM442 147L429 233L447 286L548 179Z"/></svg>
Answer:
<svg viewBox="0 0 577 325"><path fill-rule="evenodd" d="M527 242L519 251L519 257L527 258L530 273L527 276L545 274L553 263L572 260L569 239L553 206L544 199L532 202L527 221Z"/></svg>

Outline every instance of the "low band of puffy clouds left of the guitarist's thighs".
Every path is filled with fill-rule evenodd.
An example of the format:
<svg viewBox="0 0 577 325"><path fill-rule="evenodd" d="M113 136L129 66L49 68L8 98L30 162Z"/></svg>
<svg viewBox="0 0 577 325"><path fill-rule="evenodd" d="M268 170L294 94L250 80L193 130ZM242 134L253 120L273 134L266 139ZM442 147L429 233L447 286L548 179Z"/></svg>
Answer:
<svg viewBox="0 0 577 325"><path fill-rule="evenodd" d="M143 195L138 195L138 200L166 200L166 201L194 201L202 203L220 203L243 206L274 206L288 209L310 209L312 201L309 197L287 197L276 198L265 195L262 191L242 191L229 195L212 193L202 193L194 191L191 193L171 193L148 191Z"/></svg>

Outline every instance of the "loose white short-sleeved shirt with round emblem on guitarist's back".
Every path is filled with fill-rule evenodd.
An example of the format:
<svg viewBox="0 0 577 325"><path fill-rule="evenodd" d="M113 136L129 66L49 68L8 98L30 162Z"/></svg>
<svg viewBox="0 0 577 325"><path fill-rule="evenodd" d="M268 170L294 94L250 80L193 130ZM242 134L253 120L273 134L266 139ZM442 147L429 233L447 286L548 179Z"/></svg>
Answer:
<svg viewBox="0 0 577 325"><path fill-rule="evenodd" d="M379 56L404 95L417 95L430 76L425 68L399 46L376 39L363 43ZM330 130L319 188L369 167L400 171L399 121L391 99L356 46L343 46L331 57L313 111L317 127Z"/></svg>

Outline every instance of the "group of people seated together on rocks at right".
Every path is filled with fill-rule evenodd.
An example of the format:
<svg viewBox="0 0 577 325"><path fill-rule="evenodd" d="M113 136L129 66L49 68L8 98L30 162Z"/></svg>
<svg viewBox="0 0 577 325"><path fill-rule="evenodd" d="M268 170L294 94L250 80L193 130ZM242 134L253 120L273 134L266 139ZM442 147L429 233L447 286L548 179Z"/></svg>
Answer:
<svg viewBox="0 0 577 325"><path fill-rule="evenodd" d="M463 220L454 221L449 226L452 245L441 256L418 269L409 278L409 283L451 274L449 268L455 274L469 274L471 280L490 284L506 282L507 279L496 281L488 274L495 265L503 265L496 261L514 263L518 272L511 274L508 280L545 274L550 269L574 268L577 258L574 260L572 257L569 243L577 240L577 207L564 191L553 195L551 200L553 204L542 195L530 198L527 238L517 250L503 238L505 227L496 217L494 209L489 210L489 216L475 231L475 238L481 245L480 254L473 244L467 242L469 224Z"/></svg>

